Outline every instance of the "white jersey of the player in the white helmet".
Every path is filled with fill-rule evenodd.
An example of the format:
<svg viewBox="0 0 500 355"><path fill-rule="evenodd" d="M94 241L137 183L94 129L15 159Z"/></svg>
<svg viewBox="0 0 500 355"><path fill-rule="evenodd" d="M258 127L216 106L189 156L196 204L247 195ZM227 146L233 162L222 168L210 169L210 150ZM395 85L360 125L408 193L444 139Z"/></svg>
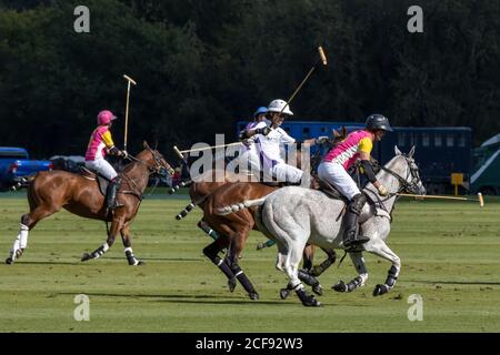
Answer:
<svg viewBox="0 0 500 355"><path fill-rule="evenodd" d="M267 126L266 122L259 122L254 129L262 129L264 126ZM257 134L256 139L258 150L263 160L270 161L272 165L284 163L284 160L281 158L281 144L291 144L294 142L296 140L288 135L281 128L271 129L271 132L268 135Z"/></svg>

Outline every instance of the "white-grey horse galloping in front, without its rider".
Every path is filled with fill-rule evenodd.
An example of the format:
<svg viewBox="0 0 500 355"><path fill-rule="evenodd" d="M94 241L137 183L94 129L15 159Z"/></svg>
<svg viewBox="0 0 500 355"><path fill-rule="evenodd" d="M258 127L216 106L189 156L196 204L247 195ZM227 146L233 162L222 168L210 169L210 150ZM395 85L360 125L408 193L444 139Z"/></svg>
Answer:
<svg viewBox="0 0 500 355"><path fill-rule="evenodd" d="M379 180L388 187L390 194L380 196L377 189L369 183L363 193L370 201L363 206L359 217L359 233L370 240L356 250L348 250L358 271L358 276L344 284L340 281L333 286L338 292L351 292L363 286L368 280L362 251L376 254L392 263L387 280L373 290L373 296L382 295L394 287L401 261L386 244L391 227L391 212L397 200L397 193L406 191L424 194L426 189L419 176L418 166L413 161L414 146L408 155L396 146L396 156L377 173ZM260 206L258 209L259 230L277 242L277 268L284 271L290 278L288 290L296 291L306 306L319 306L313 295L308 295L298 277L299 263L306 243L312 243L324 248L344 248L342 245L344 202L328 197L317 190L288 186L259 200L249 200L219 209L220 214L229 214L241 209ZM283 288L284 290L284 288ZM283 293L283 290L281 292Z"/></svg>

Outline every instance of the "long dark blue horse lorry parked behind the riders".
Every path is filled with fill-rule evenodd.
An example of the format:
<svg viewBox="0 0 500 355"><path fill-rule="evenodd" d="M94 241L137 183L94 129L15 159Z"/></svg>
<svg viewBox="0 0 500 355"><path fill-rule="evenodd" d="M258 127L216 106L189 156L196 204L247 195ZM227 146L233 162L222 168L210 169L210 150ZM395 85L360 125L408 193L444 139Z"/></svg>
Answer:
<svg viewBox="0 0 500 355"><path fill-rule="evenodd" d="M239 133L247 121L239 121ZM348 132L364 128L364 122L323 122L286 121L281 128L297 140L307 140L321 135L331 136L332 130L342 126ZM402 152L409 152L416 145L416 161L420 176L429 194L452 192L451 174L462 173L464 187L469 186L472 173L472 130L468 126L411 128L393 126L394 132L387 133L381 142L373 144L372 155L381 164L394 156L394 145ZM311 150L311 154L314 153Z"/></svg>

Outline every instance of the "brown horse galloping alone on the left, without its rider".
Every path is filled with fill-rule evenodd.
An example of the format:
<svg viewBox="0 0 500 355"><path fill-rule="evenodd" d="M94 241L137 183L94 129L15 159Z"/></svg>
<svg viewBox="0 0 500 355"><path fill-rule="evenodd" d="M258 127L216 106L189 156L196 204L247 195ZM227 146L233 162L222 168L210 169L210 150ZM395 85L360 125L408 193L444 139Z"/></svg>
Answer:
<svg viewBox="0 0 500 355"><path fill-rule="evenodd" d="M29 231L38 222L64 209L82 217L104 221L107 224L111 222L104 244L90 254L84 253L82 262L102 256L113 245L120 232L129 265L142 264L133 255L130 224L139 211L150 174L163 174L166 171L173 173L172 168L157 150L152 150L147 142L143 145L144 150L136 158L129 155L132 162L121 172L123 181L118 194L123 206L113 212L108 211L106 196L101 194L96 176L60 170L34 175L27 194L30 212L21 217L21 229L6 263L12 264L16 258L21 257L28 245Z"/></svg>

